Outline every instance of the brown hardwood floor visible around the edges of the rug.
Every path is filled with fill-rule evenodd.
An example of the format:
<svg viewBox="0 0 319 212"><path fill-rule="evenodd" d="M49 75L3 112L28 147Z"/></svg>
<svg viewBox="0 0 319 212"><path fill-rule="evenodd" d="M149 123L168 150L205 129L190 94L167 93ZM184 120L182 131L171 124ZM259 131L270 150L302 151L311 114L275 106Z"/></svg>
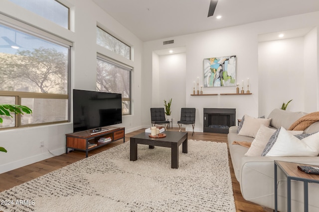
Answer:
<svg viewBox="0 0 319 212"><path fill-rule="evenodd" d="M139 133L144 132L145 129L134 131L125 135L125 141L130 141L132 136L135 136ZM170 129L173 131L178 131L177 128ZM213 133L197 133L195 132L194 136L191 136L191 132L188 133L188 139L193 140L202 140L202 141L216 141L216 142L226 142L227 143L227 134L213 134ZM112 148L116 145L123 143L123 140L115 141L106 146L89 151L89 156L96 154L98 152L104 151L106 149ZM229 155L229 154L228 154ZM73 162L85 158L85 152L83 151L72 151L68 154L62 154L59 156L54 156L52 158L39 161L12 171L5 172L0 174L0 192L10 189L14 186L47 174L51 171L69 165ZM253 203L247 202L241 195L239 183L236 180L233 166L231 163L231 158L229 155L229 166L233 182L233 191L234 199L237 212L264 212L263 208L255 205Z"/></svg>

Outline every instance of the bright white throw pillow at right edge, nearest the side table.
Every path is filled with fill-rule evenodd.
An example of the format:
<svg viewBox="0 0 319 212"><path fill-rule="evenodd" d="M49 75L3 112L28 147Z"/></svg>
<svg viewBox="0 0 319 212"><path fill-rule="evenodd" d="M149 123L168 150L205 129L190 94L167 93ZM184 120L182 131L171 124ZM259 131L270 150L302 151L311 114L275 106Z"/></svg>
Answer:
<svg viewBox="0 0 319 212"><path fill-rule="evenodd" d="M318 156L319 133L298 139L281 127L278 138L266 156Z"/></svg>

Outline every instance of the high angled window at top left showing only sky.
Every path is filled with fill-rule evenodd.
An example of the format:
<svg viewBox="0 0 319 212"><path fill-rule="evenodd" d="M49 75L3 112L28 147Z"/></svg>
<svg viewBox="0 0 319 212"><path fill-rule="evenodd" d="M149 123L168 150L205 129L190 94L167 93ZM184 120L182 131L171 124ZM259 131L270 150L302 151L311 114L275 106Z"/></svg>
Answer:
<svg viewBox="0 0 319 212"><path fill-rule="evenodd" d="M57 0L9 0L60 26L69 28L69 8Z"/></svg>

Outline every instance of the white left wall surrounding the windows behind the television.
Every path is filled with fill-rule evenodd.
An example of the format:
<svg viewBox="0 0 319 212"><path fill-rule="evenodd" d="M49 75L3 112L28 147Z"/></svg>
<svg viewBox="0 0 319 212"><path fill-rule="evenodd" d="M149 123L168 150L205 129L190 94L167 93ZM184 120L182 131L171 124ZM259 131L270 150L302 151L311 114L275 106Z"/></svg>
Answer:
<svg viewBox="0 0 319 212"><path fill-rule="evenodd" d="M71 89L96 89L97 52L134 67L132 115L124 116L123 124L119 126L125 127L126 133L140 129L142 127L142 41L91 0L63 0L63 3L71 9L71 30L19 8L8 0L1 0L0 13L23 20L74 43L71 48ZM132 46L134 57L131 61L96 45L97 24ZM7 153L0 152L0 173L52 157L48 150L56 155L64 153L65 134L73 132L72 120L71 116L70 123L0 131L0 146L8 150ZM44 147L40 148L40 141L44 141Z"/></svg>

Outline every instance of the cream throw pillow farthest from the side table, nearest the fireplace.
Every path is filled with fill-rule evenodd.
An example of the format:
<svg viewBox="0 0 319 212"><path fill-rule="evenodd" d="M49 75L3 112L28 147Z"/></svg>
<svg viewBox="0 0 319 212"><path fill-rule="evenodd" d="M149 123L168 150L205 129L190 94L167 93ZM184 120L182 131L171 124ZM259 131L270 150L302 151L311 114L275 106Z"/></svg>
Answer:
<svg viewBox="0 0 319 212"><path fill-rule="evenodd" d="M253 118L245 115L245 122L238 135L255 138L260 126L263 124L269 127L271 119Z"/></svg>

